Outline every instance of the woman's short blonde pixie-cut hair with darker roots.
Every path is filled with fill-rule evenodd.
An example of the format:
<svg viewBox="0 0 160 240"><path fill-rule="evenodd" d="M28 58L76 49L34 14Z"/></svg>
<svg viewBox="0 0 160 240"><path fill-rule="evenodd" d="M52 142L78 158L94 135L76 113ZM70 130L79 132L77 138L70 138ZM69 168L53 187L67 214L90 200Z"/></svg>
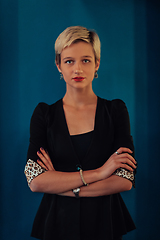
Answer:
<svg viewBox="0 0 160 240"><path fill-rule="evenodd" d="M100 59L101 43L95 31L90 31L85 27L73 26L66 28L56 39L55 42L55 62L61 64L61 52L64 48L69 47L71 44L84 41L93 47L95 62Z"/></svg>

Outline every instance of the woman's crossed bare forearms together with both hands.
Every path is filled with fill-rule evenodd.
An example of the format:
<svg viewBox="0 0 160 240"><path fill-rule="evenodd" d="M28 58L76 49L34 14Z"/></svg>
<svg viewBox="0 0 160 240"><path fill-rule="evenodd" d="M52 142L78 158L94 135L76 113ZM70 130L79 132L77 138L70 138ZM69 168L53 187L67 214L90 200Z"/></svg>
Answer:
<svg viewBox="0 0 160 240"><path fill-rule="evenodd" d="M83 171L83 178L90 186L83 189L83 182L79 172L59 172L55 171L51 163L49 155L41 149L41 153L37 155L43 161L38 163L41 167L46 168L46 172L35 177L31 183L30 188L33 192L43 192L51 194L61 194L71 191L77 187L82 187L82 196L102 196L113 194L116 192L126 191L128 189L128 180L122 180L120 177L111 176L116 169L123 167L128 171L133 171L136 168L135 159L128 153L132 151L127 148L118 149L119 154L114 153L105 162L103 166L95 170ZM128 153L124 153L127 152ZM105 180L103 180L105 179ZM102 181L103 180L103 181ZM91 184L94 183L94 184ZM124 190L123 190L124 189ZM111 192L111 193L110 193Z"/></svg>

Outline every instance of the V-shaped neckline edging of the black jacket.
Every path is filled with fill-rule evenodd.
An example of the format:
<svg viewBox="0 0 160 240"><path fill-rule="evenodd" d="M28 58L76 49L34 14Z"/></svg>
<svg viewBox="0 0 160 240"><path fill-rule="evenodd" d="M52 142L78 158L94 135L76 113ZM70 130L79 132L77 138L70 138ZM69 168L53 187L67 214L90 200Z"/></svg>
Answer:
<svg viewBox="0 0 160 240"><path fill-rule="evenodd" d="M84 159L87 157L91 147L92 147L92 144L93 144L93 141L94 141L94 138L95 138L95 131L96 131L96 128L97 128L97 113L98 113L98 109L99 109L99 97L97 96L97 106L96 106L96 111L95 111L95 117L94 117L94 129L93 129L93 135L92 135L92 140L90 142L90 145L86 151L86 154L84 156ZM74 152L74 155L76 156L76 159L77 159L77 165L80 164L80 161L79 161L79 158L77 156L77 153L75 151L75 148L73 146L73 143L72 143L72 139L71 139L71 136L70 135L70 132L69 132L69 128L68 128L68 125L67 125L67 121L66 121L66 116L65 116L65 112L64 112L64 108L63 108L63 99L61 99L61 110L62 110L62 113L63 113L63 121L65 123L65 129L67 131L67 138L68 138L68 141L70 143L70 146Z"/></svg>

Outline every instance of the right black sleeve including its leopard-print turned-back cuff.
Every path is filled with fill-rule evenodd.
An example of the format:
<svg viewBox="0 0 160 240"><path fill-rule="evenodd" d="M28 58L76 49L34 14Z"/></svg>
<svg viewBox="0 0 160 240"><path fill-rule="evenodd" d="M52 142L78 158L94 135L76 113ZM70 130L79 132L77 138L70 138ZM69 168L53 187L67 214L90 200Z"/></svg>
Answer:
<svg viewBox="0 0 160 240"><path fill-rule="evenodd" d="M134 157L134 144L130 133L130 120L127 107L119 99L113 100L112 104L113 123L115 127L113 152L116 152L120 147L127 147L133 151L132 156ZM130 172L125 168L119 168L113 174L130 180L133 187L135 187L136 170Z"/></svg>

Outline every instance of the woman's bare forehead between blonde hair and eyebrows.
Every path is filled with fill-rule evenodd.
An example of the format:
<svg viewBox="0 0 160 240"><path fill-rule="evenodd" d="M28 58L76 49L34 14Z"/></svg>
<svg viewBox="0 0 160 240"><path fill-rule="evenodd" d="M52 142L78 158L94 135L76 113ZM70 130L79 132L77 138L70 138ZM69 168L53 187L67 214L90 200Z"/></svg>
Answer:
<svg viewBox="0 0 160 240"><path fill-rule="evenodd" d="M78 42L73 43L69 47L66 47L62 50L61 57L83 57L83 56L90 56L94 58L94 51L93 47L90 43L86 42Z"/></svg>

